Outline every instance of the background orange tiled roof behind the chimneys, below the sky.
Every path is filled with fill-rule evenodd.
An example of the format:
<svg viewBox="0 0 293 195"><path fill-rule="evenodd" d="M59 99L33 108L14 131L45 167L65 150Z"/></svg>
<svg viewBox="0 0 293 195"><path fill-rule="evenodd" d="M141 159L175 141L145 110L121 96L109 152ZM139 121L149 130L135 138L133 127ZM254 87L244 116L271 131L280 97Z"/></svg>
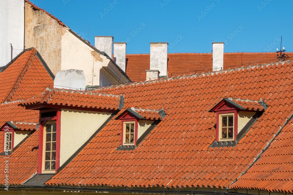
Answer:
<svg viewBox="0 0 293 195"><path fill-rule="evenodd" d="M293 53L286 53L289 57ZM183 76L202 72L212 72L212 53L168 54L168 76ZM224 53L224 69L246 67L248 65L277 62L275 52L268 53ZM126 73L134 82L145 81L150 68L150 54L127 54ZM160 75L165 76L165 75Z"/></svg>

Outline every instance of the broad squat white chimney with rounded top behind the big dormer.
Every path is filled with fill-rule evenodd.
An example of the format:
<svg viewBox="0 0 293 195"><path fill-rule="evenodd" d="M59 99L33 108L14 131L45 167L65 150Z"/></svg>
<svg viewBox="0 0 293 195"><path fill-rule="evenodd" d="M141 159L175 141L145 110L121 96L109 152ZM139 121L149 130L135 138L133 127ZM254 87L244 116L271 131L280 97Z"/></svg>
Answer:
<svg viewBox="0 0 293 195"><path fill-rule="evenodd" d="M70 69L57 72L54 79L54 88L85 90L86 77L84 71Z"/></svg>

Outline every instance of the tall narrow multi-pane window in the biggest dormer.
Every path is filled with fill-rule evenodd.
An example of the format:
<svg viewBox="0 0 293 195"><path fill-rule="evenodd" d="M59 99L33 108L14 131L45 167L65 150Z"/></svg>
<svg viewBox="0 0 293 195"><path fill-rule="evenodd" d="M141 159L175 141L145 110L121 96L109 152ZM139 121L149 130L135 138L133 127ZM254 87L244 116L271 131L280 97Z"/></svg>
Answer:
<svg viewBox="0 0 293 195"><path fill-rule="evenodd" d="M47 122L44 127L43 171L55 172L56 166L56 123Z"/></svg>

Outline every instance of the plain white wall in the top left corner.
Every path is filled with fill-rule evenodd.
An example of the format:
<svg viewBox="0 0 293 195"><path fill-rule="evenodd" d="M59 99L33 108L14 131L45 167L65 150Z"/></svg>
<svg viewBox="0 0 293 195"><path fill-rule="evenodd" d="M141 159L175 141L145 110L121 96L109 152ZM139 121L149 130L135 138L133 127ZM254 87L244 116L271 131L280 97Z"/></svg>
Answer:
<svg viewBox="0 0 293 195"><path fill-rule="evenodd" d="M0 67L24 49L24 0L0 1Z"/></svg>

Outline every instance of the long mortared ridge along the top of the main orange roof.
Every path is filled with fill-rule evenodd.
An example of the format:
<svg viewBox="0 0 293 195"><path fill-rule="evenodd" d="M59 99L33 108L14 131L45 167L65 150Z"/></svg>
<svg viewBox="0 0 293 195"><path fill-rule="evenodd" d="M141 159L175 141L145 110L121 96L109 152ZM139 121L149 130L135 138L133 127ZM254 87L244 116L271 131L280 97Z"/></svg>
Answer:
<svg viewBox="0 0 293 195"><path fill-rule="evenodd" d="M209 76L209 75L214 75L214 74L222 74L222 73L227 73L227 72L231 72L231 71L236 71L236 70L244 70L244 69L250 69L250 68L263 68L265 66L273 66L273 65L279 65L279 64L285 64L285 63L291 63L293 62L292 60L287 60L287 61L279 61L279 62L272 62L272 63L268 63L268 64L258 64L258 65L249 65L249 66L243 66L243 67L238 67L238 68L232 68L232 69L225 69L225 70L217 70L217 71L213 71L213 72L207 72L207 73L196 73L196 74L190 74L190 75L183 75L183 76L178 76L178 77L166 77L166 78L161 78L161 79L155 79L155 80L150 80L150 81L140 81L140 82L133 82L133 83L129 83L129 84L119 84L119 85L112 85L112 86L108 86L108 87L100 87L98 89L95 90L100 90L100 89L113 89L113 88L117 88L117 87L124 87L127 85L137 85L137 84L147 84L147 83L154 83L154 82L159 82L159 81L165 81L165 80L180 80L180 79L185 79L185 78L191 78L191 77L200 77L200 76Z"/></svg>

